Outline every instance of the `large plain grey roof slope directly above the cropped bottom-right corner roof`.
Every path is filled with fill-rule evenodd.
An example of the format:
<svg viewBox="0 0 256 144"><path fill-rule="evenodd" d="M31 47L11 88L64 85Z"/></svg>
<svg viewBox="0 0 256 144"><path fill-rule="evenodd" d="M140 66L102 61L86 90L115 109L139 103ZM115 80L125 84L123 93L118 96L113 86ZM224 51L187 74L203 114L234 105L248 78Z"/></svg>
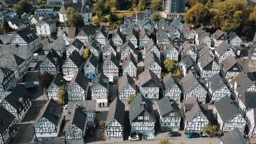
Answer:
<svg viewBox="0 0 256 144"><path fill-rule="evenodd" d="M229 118L232 118L239 112L234 102L229 98L229 95L220 99L218 103L214 104L214 107L223 122L228 121Z"/></svg>

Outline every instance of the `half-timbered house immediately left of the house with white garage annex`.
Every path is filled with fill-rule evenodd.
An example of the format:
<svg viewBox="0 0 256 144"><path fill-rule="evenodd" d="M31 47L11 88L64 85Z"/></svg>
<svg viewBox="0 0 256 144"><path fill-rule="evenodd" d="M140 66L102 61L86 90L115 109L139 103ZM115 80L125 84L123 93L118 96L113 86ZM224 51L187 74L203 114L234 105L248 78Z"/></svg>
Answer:
<svg viewBox="0 0 256 144"><path fill-rule="evenodd" d="M87 100L89 80L82 73L77 71L67 88L68 101Z"/></svg>

